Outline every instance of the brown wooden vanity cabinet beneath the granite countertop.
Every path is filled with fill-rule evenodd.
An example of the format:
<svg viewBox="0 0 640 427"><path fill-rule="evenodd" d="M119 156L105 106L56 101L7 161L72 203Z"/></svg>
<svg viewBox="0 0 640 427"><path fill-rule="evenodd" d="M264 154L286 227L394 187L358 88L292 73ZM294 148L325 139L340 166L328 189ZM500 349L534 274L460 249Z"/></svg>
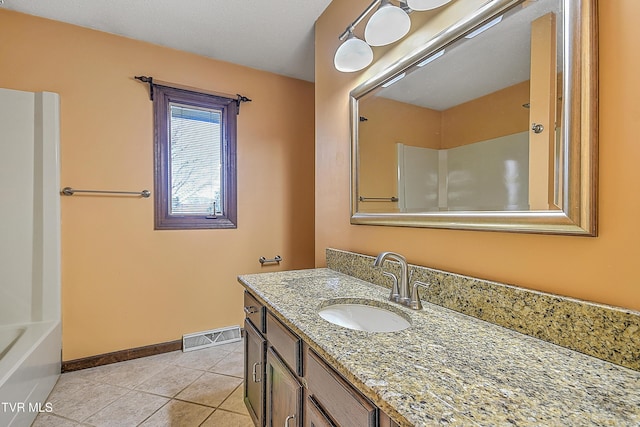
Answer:
<svg viewBox="0 0 640 427"><path fill-rule="evenodd" d="M245 313L244 401L257 427L396 427L246 291Z"/></svg>

